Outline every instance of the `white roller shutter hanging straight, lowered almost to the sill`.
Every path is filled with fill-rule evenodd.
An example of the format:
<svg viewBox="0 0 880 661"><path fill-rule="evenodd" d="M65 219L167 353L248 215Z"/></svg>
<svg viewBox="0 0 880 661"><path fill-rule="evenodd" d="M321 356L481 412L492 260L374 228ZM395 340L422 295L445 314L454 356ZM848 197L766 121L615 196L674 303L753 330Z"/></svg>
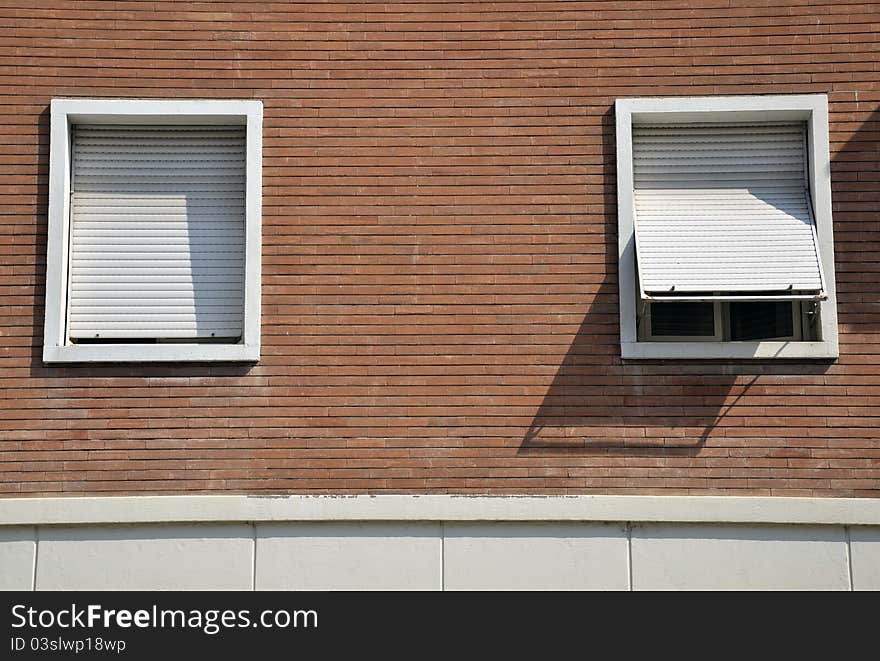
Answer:
<svg viewBox="0 0 880 661"><path fill-rule="evenodd" d="M244 204L244 127L75 126L69 336L241 336Z"/></svg>

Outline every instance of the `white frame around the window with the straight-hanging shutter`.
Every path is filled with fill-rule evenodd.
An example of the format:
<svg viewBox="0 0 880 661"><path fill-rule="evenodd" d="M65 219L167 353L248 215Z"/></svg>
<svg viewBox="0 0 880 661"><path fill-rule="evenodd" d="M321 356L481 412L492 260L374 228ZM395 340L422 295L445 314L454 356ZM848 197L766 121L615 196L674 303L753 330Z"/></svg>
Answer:
<svg viewBox="0 0 880 661"><path fill-rule="evenodd" d="M70 341L65 318L70 258L71 126L85 123L246 127L244 327L238 343L74 344ZM262 131L263 104L260 101L52 99L44 362L259 360Z"/></svg>

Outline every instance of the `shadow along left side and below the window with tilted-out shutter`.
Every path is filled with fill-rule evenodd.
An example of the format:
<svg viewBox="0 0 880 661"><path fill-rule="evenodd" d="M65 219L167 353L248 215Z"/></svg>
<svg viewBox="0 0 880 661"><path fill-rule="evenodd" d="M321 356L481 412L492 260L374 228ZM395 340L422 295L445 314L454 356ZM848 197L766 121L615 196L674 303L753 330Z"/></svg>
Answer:
<svg viewBox="0 0 880 661"><path fill-rule="evenodd" d="M560 361L518 454L690 456L713 436L741 433L745 407L784 425L768 384L802 387L832 361L620 358L615 115L602 118L605 278ZM771 388L772 390L772 388ZM778 399L778 398L776 398ZM768 402L773 401L773 404ZM784 402L783 402L784 404ZM776 419L774 419L776 418Z"/></svg>

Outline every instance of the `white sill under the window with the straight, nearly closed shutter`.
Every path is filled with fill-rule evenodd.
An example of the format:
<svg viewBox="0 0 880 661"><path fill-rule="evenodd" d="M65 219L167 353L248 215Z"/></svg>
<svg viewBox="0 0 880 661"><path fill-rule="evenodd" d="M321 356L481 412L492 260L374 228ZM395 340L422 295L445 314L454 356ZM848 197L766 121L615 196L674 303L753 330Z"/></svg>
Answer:
<svg viewBox="0 0 880 661"><path fill-rule="evenodd" d="M45 363L255 362L259 345L92 344L47 346Z"/></svg>

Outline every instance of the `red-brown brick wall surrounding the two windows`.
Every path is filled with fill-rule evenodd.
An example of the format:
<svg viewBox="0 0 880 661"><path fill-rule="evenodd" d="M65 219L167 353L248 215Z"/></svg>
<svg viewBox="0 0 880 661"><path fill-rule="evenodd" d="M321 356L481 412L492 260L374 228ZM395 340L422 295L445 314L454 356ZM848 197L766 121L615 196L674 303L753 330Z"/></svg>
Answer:
<svg viewBox="0 0 880 661"><path fill-rule="evenodd" d="M880 496L880 9L0 5L0 493ZM841 357L628 362L612 104L822 92ZM53 97L265 105L263 359L41 363Z"/></svg>

